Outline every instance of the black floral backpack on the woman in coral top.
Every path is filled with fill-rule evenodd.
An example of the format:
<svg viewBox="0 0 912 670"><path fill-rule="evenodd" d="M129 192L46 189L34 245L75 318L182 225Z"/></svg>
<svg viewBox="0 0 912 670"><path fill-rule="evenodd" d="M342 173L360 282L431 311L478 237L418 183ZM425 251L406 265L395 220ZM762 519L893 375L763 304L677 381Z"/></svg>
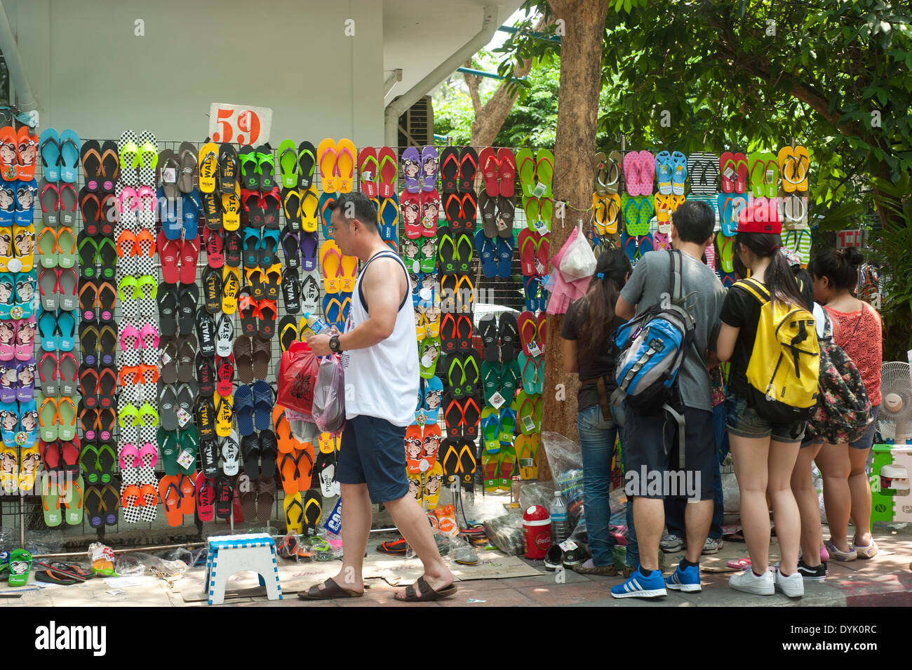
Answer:
<svg viewBox="0 0 912 670"><path fill-rule="evenodd" d="M833 325L824 310L820 342L820 395L807 421L804 439L827 444L855 442L874 421L861 373L833 341Z"/></svg>

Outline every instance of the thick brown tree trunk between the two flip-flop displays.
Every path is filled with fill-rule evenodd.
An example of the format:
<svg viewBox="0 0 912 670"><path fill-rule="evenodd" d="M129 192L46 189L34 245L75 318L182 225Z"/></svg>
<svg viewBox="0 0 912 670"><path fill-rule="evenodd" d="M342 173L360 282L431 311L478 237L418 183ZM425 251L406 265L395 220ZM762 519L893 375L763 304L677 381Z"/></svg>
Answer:
<svg viewBox="0 0 912 670"><path fill-rule="evenodd" d="M557 253L577 219L588 223L592 208L593 156L596 153L598 93L602 81L602 49L608 0L548 0L561 36L561 78L554 140L554 218L551 253ZM562 208L556 204L565 202ZM564 370L560 332L563 314L547 317L544 354L542 429L576 439L578 380ZM550 388L549 388L550 387ZM539 451L539 479L551 479L551 468Z"/></svg>

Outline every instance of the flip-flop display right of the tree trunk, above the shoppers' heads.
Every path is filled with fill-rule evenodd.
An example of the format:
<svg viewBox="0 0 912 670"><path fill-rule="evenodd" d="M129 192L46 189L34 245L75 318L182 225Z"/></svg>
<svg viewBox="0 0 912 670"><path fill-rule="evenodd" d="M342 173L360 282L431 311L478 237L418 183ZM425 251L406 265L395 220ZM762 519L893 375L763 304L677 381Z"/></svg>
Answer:
<svg viewBox="0 0 912 670"><path fill-rule="evenodd" d="M794 144L775 154L598 152L592 239L598 245L620 232L621 248L636 263L644 253L670 248L671 214L686 200L701 200L715 211L717 220L707 262L726 286L734 282L732 253L739 216L782 222L783 246L806 264L811 258L809 173L808 150Z"/></svg>

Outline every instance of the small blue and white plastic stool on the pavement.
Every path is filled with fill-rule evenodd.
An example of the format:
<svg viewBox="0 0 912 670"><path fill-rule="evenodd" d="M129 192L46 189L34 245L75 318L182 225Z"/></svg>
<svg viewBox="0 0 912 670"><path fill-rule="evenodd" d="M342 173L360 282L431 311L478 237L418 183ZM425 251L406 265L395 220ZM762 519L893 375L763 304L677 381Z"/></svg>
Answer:
<svg viewBox="0 0 912 670"><path fill-rule="evenodd" d="M282 600L279 568L275 562L275 541L266 533L219 535L209 538L206 557L206 584L209 604L220 605L225 599L225 584L235 572L249 570L260 577L269 600Z"/></svg>

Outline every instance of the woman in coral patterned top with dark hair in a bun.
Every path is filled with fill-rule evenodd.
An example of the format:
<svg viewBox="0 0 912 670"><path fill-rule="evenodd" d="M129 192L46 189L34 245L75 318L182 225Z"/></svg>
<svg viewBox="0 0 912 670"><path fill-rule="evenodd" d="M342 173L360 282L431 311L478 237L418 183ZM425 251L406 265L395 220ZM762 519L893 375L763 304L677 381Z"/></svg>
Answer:
<svg viewBox="0 0 912 670"><path fill-rule="evenodd" d="M814 277L814 299L824 305L833 322L834 342L852 359L865 382L871 411L880 405L880 366L883 337L880 314L858 300L858 267L865 256L855 247L827 250L814 257L808 271ZM851 444L824 445L816 458L824 475L824 506L830 524L826 549L837 561L872 558L877 544L871 537L871 487L865 463L874 443L876 421ZM849 517L855 538L847 538Z"/></svg>

